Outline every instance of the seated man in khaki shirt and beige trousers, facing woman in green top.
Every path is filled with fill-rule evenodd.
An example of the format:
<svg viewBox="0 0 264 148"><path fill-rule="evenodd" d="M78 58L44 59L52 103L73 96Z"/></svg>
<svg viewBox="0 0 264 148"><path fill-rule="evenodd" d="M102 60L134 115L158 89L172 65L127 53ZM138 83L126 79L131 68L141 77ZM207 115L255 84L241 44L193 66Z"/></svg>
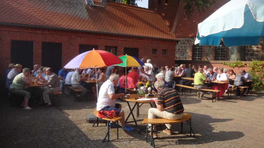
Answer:
<svg viewBox="0 0 264 148"><path fill-rule="evenodd" d="M46 69L46 74L50 76L48 82L37 82L38 84L46 85L43 88L43 98L46 103L44 107L51 107L49 95L53 92L60 92L60 79L59 76L53 73L51 68Z"/></svg>

